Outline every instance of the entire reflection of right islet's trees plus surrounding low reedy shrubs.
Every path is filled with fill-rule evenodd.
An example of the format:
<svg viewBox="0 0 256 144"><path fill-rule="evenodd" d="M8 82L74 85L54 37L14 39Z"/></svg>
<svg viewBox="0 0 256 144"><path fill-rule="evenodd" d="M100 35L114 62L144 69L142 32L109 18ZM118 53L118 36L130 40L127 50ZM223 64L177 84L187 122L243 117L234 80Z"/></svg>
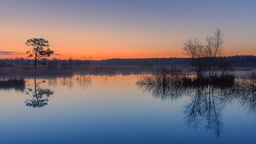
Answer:
<svg viewBox="0 0 256 144"><path fill-rule="evenodd" d="M191 101L185 106L185 121L189 127L204 125L219 136L223 130L221 113L225 104L240 101L250 112L256 112L256 83L253 80L236 82L234 85L190 85L172 83L172 79L151 75L137 81L139 88L162 100L175 100L190 95Z"/></svg>

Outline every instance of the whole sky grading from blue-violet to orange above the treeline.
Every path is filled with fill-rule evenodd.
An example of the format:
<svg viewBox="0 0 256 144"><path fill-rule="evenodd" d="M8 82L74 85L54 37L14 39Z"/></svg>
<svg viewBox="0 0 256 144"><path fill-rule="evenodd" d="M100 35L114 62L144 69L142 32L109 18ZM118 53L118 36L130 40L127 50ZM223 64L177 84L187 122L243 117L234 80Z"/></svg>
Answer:
<svg viewBox="0 0 256 144"><path fill-rule="evenodd" d="M189 38L224 32L224 55L256 55L253 0L0 0L0 58L44 37L59 59L185 57Z"/></svg>

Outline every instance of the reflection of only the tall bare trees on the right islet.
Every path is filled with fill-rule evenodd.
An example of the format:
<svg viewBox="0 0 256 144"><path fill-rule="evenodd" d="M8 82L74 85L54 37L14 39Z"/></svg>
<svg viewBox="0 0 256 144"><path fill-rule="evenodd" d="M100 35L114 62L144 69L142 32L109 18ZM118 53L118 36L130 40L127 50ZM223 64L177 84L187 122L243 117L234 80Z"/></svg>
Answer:
<svg viewBox="0 0 256 144"><path fill-rule="evenodd" d="M206 122L207 130L213 130L218 136L222 130L221 110L224 105L219 90L209 87L198 87L192 95L192 101L185 107L186 124L197 128Z"/></svg>

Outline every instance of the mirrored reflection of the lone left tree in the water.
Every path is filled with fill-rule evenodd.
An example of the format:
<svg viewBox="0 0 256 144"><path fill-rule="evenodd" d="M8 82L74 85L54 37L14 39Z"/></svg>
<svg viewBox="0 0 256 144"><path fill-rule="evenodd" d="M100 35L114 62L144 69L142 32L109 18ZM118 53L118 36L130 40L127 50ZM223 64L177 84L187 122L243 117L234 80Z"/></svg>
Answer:
<svg viewBox="0 0 256 144"><path fill-rule="evenodd" d="M45 107L48 104L49 96L54 94L51 89L43 89L40 87L42 82L37 82L34 78L32 88L26 89L26 95L30 95L30 99L25 101L27 107Z"/></svg>

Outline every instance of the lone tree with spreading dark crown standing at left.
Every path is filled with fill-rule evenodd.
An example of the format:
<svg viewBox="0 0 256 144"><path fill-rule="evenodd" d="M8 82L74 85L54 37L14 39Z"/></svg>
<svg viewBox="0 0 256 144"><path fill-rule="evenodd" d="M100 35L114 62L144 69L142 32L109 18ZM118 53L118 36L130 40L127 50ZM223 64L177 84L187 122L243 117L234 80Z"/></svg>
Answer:
<svg viewBox="0 0 256 144"><path fill-rule="evenodd" d="M31 47L26 51L26 55L34 58L35 69L39 59L48 58L54 54L54 51L49 49L49 41L44 38L30 38L26 40L26 46Z"/></svg>

